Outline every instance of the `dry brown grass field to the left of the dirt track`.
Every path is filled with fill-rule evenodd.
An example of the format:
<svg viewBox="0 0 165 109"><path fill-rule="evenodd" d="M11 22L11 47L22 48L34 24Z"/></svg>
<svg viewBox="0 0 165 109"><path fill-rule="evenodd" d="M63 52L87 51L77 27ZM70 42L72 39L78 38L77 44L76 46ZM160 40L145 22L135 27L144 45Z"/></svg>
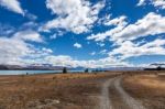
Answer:
<svg viewBox="0 0 165 109"><path fill-rule="evenodd" d="M117 73L0 77L0 109L96 109L100 84Z"/></svg>

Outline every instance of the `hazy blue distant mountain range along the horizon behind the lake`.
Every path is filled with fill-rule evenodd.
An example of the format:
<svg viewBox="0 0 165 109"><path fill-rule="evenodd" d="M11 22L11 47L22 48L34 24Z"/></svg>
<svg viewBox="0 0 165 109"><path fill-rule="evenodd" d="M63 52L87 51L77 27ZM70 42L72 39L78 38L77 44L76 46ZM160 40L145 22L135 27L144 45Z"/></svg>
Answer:
<svg viewBox="0 0 165 109"><path fill-rule="evenodd" d="M51 64L21 65L0 65L0 70L62 70L63 66L53 66ZM68 70L85 70L85 67L67 67ZM89 68L89 70L142 70L142 67L109 67L109 68Z"/></svg>

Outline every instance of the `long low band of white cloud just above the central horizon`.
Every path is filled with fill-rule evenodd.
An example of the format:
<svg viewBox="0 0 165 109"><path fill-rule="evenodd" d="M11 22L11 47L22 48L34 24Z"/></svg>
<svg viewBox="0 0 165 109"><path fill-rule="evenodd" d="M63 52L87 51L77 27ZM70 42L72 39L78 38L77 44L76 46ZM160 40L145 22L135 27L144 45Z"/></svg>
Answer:
<svg viewBox="0 0 165 109"><path fill-rule="evenodd" d="M58 55L58 56L47 56L45 57L45 61L47 63L51 63L53 65L58 65L58 66L68 66L68 67L88 67L88 68L109 68L111 66L128 66L129 63L127 62L120 62L117 61L116 58L107 57L107 58L101 58L98 61L77 61L72 58L70 56L66 55Z"/></svg>

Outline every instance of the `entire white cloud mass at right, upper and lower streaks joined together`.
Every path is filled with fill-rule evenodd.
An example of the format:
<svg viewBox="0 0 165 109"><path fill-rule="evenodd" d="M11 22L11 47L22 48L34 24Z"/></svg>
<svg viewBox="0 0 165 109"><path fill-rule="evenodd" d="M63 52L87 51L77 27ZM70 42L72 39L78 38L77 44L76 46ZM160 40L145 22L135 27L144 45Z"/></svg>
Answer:
<svg viewBox="0 0 165 109"><path fill-rule="evenodd" d="M123 17L122 17L123 18ZM153 42L133 41L148 36L165 33L165 17L150 12L134 24L128 24L125 18L117 18L110 20L107 25L116 25L116 28L96 35L88 36L88 40L103 41L109 37L117 45L109 56L125 59L133 56L142 55L165 55L165 40L156 39ZM120 22L120 23L119 23ZM124 22L124 23L123 23Z"/></svg>

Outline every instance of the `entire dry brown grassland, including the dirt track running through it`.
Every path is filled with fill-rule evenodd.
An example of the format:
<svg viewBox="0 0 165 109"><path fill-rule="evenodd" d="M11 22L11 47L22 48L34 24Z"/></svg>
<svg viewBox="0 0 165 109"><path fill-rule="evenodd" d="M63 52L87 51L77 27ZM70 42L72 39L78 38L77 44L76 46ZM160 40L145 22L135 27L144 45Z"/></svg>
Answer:
<svg viewBox="0 0 165 109"><path fill-rule="evenodd" d="M165 109L163 73L121 73L0 76L0 109Z"/></svg>

